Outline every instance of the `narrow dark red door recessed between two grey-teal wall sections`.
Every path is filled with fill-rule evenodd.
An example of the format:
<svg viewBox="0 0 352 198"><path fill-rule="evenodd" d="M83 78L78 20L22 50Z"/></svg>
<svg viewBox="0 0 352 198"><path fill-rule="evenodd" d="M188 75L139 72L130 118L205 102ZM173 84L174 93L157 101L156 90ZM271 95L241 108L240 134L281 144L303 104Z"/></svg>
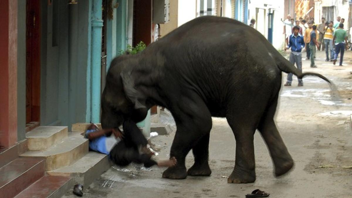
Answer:
<svg viewBox="0 0 352 198"><path fill-rule="evenodd" d="M40 119L40 2L26 2L26 126ZM31 124L30 124L31 125Z"/></svg>

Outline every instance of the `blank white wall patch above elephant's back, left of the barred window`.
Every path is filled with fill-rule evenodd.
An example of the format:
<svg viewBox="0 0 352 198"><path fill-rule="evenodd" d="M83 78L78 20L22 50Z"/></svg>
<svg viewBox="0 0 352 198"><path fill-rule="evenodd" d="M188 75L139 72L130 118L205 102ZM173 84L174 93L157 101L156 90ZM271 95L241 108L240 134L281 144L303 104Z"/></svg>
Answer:
<svg viewBox="0 0 352 198"><path fill-rule="evenodd" d="M196 0L178 0L177 26L196 18Z"/></svg>

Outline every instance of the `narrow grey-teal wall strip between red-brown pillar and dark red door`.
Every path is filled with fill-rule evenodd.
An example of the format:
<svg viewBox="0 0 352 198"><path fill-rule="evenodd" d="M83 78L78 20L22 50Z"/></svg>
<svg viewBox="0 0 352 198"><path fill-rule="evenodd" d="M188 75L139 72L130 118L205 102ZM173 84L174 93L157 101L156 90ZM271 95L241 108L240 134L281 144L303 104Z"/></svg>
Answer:
<svg viewBox="0 0 352 198"><path fill-rule="evenodd" d="M26 135L26 1L17 1L17 140Z"/></svg>

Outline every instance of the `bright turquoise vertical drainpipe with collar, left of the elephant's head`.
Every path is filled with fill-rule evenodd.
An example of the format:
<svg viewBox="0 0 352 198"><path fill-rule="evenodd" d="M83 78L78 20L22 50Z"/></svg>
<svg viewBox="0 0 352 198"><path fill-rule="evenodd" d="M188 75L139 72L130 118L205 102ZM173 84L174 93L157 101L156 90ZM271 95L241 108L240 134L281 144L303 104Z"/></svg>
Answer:
<svg viewBox="0 0 352 198"><path fill-rule="evenodd" d="M101 95L101 31L102 20L102 0L92 2L92 49L91 49L91 117L90 121L100 122L100 95Z"/></svg>

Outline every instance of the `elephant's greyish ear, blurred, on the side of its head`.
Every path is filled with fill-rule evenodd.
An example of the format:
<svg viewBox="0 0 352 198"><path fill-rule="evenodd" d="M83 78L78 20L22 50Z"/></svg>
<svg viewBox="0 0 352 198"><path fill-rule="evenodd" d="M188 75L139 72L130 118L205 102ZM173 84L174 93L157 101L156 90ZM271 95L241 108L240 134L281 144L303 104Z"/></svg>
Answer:
<svg viewBox="0 0 352 198"><path fill-rule="evenodd" d="M121 79L124 85L126 97L132 101L135 109L145 109L144 95L134 88L134 80L131 71L121 72Z"/></svg>

